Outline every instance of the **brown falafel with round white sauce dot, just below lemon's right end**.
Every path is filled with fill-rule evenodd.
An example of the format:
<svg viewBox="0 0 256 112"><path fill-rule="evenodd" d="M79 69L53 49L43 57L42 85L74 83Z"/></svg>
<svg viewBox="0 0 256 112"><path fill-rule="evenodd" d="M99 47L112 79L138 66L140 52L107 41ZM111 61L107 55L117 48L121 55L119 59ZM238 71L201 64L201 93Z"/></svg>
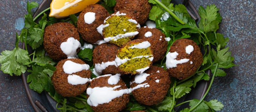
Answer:
<svg viewBox="0 0 256 112"><path fill-rule="evenodd" d="M82 38L89 43L103 40L102 30L98 29L109 16L108 11L100 4L90 4L79 14L77 28Z"/></svg>

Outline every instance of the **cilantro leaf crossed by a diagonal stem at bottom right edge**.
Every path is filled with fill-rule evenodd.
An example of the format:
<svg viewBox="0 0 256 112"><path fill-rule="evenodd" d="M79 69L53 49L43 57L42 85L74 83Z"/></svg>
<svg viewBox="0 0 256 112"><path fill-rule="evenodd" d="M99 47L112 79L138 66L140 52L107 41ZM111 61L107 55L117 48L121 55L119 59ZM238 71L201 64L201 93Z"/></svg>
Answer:
<svg viewBox="0 0 256 112"><path fill-rule="evenodd" d="M190 109L195 107L199 103L199 100L193 99L189 102ZM208 105L206 105L204 102L200 103L198 107L196 107L192 112L207 112L209 109Z"/></svg>

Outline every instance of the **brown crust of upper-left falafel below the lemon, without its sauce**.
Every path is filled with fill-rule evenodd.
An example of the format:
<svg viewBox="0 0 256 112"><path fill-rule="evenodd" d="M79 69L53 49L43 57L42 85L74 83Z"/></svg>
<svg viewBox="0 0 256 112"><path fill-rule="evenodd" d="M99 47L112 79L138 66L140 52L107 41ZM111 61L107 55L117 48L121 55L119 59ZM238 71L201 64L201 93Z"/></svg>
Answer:
<svg viewBox="0 0 256 112"><path fill-rule="evenodd" d="M44 49L53 60L66 59L67 55L60 49L60 44L66 42L69 37L80 40L78 30L73 24L59 22L49 25L44 30ZM80 48L76 50L78 52Z"/></svg>

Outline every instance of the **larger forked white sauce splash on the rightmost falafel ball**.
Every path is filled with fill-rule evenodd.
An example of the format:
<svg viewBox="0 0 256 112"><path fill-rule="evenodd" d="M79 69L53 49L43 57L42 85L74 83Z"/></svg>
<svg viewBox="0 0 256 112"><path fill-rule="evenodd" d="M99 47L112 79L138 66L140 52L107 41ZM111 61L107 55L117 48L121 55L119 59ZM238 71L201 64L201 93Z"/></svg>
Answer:
<svg viewBox="0 0 256 112"><path fill-rule="evenodd" d="M173 68L177 67L177 64L182 64L186 63L189 61L189 59L181 59L181 60L176 60L179 54L177 52L168 52L166 55L166 68Z"/></svg>

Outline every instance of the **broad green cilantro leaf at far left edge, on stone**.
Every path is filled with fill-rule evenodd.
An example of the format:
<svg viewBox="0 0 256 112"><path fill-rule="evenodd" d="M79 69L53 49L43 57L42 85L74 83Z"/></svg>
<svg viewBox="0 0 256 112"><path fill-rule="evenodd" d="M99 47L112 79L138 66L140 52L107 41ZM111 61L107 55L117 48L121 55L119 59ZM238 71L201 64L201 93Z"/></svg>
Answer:
<svg viewBox="0 0 256 112"><path fill-rule="evenodd" d="M2 51L0 55L0 68L6 73L20 76L25 73L27 66L24 64L29 61L28 51L15 47L12 51Z"/></svg>

